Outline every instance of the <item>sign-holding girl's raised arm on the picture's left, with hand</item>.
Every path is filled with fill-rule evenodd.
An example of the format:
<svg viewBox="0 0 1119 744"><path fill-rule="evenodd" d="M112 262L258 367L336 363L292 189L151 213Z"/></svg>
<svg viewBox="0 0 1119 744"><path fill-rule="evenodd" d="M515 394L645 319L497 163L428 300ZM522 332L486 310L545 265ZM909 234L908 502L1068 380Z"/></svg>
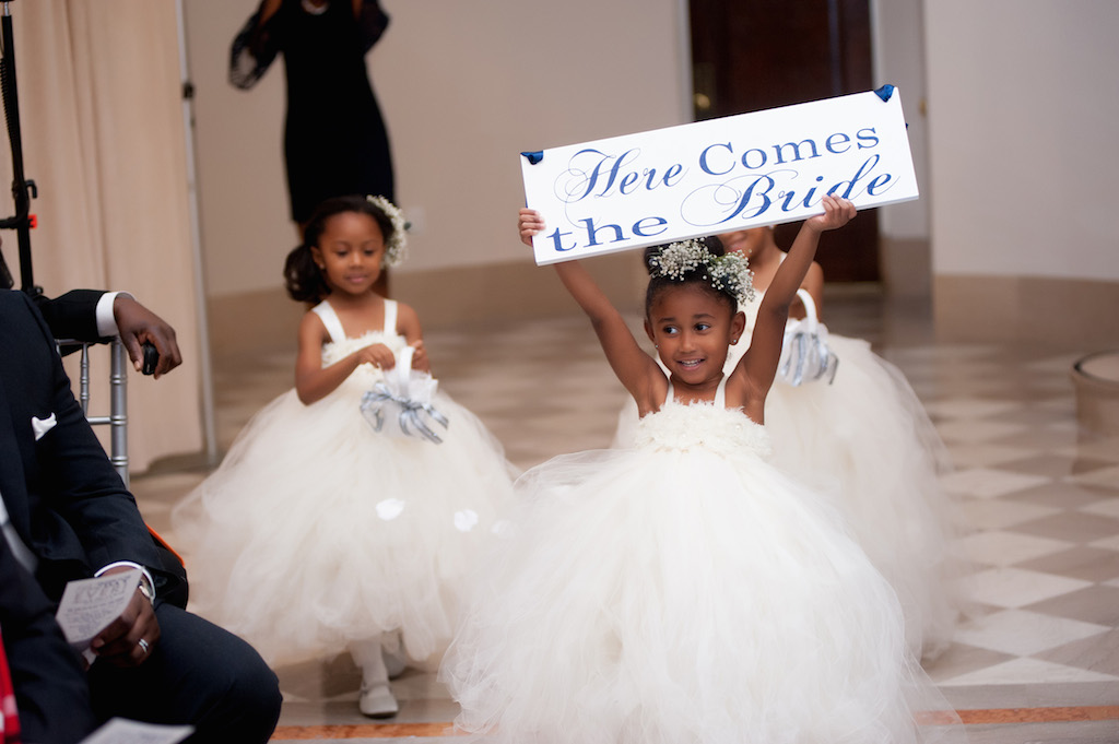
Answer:
<svg viewBox="0 0 1119 744"><path fill-rule="evenodd" d="M533 235L544 229L544 220L535 209L523 208L518 227L521 242L532 246ZM614 375L640 406L640 402L648 397L652 380L658 376L664 377L657 362L638 346L626 320L585 266L577 261L553 265L564 288L590 318Z"/></svg>

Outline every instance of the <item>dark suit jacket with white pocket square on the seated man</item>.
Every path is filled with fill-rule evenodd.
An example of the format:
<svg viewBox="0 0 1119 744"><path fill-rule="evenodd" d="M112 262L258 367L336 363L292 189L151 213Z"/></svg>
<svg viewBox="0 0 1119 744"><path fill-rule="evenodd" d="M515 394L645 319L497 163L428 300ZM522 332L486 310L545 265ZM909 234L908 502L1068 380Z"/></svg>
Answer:
<svg viewBox="0 0 1119 744"><path fill-rule="evenodd" d="M32 417L54 425L37 435ZM101 443L55 350L51 331L21 292L0 291L0 495L39 558L53 600L66 582L116 561L148 567L157 594L178 588Z"/></svg>

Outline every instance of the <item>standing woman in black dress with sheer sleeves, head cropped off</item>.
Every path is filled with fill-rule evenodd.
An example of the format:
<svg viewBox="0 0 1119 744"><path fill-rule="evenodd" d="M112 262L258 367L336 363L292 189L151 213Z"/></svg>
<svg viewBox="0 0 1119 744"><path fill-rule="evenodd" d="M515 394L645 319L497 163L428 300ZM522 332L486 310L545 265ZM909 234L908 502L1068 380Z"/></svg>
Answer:
<svg viewBox="0 0 1119 744"><path fill-rule="evenodd" d="M329 197L395 201L388 134L365 66L387 26L377 0L263 0L233 43L229 81L244 90L283 54L284 159L301 230Z"/></svg>

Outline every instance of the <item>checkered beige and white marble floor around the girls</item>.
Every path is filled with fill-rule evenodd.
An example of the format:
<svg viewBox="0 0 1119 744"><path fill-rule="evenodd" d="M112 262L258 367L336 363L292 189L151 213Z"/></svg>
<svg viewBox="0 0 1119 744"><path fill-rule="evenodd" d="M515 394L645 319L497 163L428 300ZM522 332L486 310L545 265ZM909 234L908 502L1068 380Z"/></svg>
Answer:
<svg viewBox="0 0 1119 744"><path fill-rule="evenodd" d="M863 292L829 298L828 324L902 369L952 455L943 487L969 522L972 608L927 670L970 740L1119 742L1119 437L1078 428L1069 377L1098 349L937 343L925 309ZM441 385L515 464L609 444L626 394L582 318L430 330L426 343ZM291 384L291 364L290 349L218 360L223 450ZM170 506L205 472L169 461L134 479L157 529L169 531ZM441 741L455 714L431 670L394 681L402 710L385 724L357 713L359 674L346 654L279 674L276 740Z"/></svg>

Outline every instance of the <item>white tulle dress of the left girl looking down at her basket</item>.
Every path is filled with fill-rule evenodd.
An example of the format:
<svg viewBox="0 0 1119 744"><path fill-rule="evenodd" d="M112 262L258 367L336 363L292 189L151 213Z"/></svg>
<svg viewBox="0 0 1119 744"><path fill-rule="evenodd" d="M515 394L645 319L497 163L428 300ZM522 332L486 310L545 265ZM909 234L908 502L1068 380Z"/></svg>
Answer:
<svg viewBox="0 0 1119 744"><path fill-rule="evenodd" d="M346 338L329 303L318 305L331 338L323 364L374 342L403 348L396 303L385 305L385 329L360 338ZM309 406L284 393L172 512L191 609L273 666L397 630L412 659L442 652L464 582L513 498L501 445L443 393L434 402L449 420L442 443L375 433L359 404L380 378L361 365Z"/></svg>

